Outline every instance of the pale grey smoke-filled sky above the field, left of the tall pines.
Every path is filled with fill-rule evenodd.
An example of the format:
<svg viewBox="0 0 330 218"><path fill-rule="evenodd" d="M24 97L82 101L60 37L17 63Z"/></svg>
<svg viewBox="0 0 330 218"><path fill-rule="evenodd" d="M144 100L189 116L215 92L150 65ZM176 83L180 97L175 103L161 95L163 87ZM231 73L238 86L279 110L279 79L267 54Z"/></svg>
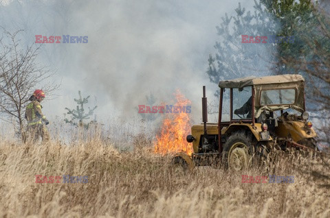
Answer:
<svg viewBox="0 0 330 218"><path fill-rule="evenodd" d="M1 1L0 1L1 2ZM91 95L98 119L112 114L129 118L145 95L174 102L179 88L192 101L192 115L201 117L201 90L212 99L216 84L206 74L214 54L216 26L241 5L252 10L254 1L3 1L0 25L24 29L23 44L35 35L88 36L88 43L45 44L40 61L62 81L58 97L44 102L49 117L63 117L73 108L78 90ZM36 87L37 88L37 87Z"/></svg>

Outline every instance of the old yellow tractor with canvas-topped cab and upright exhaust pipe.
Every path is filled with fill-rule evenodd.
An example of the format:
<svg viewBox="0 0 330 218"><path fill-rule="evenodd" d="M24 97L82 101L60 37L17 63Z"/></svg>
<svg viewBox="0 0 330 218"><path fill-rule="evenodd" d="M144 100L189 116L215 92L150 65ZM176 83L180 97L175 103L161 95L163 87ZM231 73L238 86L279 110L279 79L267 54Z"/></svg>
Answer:
<svg viewBox="0 0 330 218"><path fill-rule="evenodd" d="M203 123L192 125L186 136L192 156L179 153L173 159L184 167L210 165L226 168L250 166L252 156L265 156L276 146L318 152L317 134L308 121L305 80L301 75L243 77L219 82L218 123L207 123L207 99L203 86Z"/></svg>

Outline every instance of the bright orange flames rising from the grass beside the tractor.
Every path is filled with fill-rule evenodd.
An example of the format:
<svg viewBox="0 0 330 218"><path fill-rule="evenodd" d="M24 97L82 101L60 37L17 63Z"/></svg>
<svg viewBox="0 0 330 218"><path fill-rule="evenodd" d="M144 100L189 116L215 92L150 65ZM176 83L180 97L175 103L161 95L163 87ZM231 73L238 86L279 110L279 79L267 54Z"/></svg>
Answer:
<svg viewBox="0 0 330 218"><path fill-rule="evenodd" d="M190 101L182 95L179 90L175 93L177 103L175 107L190 106ZM175 154L186 152L192 154L192 145L186 141L186 136L190 134L189 114L186 112L168 113L162 121L162 130L156 136L154 142L154 152L157 154Z"/></svg>

